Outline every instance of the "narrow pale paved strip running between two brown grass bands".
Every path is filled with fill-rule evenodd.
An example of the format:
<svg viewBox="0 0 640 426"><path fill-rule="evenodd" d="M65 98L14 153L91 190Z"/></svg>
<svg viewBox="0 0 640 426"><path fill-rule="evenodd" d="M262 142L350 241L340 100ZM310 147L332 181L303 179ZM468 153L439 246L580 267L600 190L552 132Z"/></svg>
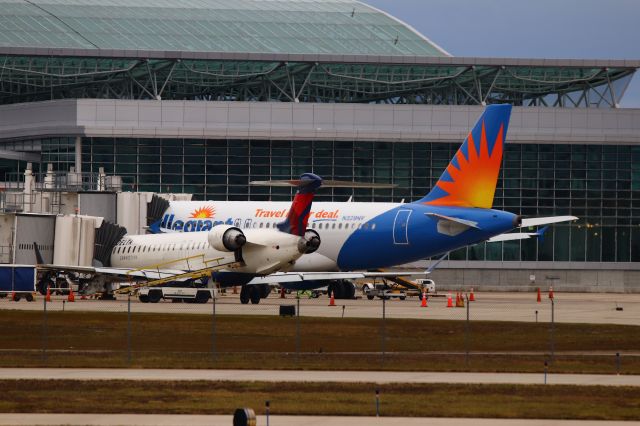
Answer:
<svg viewBox="0 0 640 426"><path fill-rule="evenodd" d="M397 371L181 370L120 368L0 368L0 380L176 380L342 383L544 384L544 374ZM640 386L640 376L548 374L548 384Z"/></svg>

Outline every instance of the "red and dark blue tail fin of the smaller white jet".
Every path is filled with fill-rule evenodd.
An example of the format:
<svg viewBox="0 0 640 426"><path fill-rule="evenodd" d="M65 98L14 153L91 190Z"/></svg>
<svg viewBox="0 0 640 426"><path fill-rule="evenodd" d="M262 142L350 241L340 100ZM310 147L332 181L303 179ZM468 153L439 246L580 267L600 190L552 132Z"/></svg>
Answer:
<svg viewBox="0 0 640 426"><path fill-rule="evenodd" d="M291 181L298 187L287 219L278 224L278 229L288 234L304 236L311 214L311 203L316 190L322 185L322 178L313 173L305 173L299 180Z"/></svg>

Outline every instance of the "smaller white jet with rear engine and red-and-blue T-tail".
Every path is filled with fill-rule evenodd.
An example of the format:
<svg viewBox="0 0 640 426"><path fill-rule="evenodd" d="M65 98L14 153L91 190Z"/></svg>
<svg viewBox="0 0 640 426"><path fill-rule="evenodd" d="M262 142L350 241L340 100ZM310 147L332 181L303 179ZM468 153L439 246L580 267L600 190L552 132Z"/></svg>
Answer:
<svg viewBox="0 0 640 426"><path fill-rule="evenodd" d="M45 265L37 244L39 287L55 287L56 278L75 284L83 294L105 289L108 284L122 281L145 281L193 278L190 272L232 274L249 281L256 276L268 276L287 271L303 254L320 247L318 233L307 229L308 211L322 179L312 173L295 181L297 193L284 221L274 227L242 229L239 226L216 226L209 232L125 235L112 249L110 266L84 267ZM266 279L266 281L268 281ZM243 288L241 300L254 303L268 286ZM208 297L207 297L208 299ZM157 302L158 300L154 300ZM204 300L206 302L206 300Z"/></svg>

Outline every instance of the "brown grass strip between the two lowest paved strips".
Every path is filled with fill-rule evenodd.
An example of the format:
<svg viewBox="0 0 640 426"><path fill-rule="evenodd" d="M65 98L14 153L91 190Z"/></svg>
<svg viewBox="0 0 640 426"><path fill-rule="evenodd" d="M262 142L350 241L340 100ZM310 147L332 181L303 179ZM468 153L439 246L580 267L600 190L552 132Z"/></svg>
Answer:
<svg viewBox="0 0 640 426"><path fill-rule="evenodd" d="M381 414L637 420L640 388L560 385L380 385ZM0 412L375 415L372 383L0 381Z"/></svg>

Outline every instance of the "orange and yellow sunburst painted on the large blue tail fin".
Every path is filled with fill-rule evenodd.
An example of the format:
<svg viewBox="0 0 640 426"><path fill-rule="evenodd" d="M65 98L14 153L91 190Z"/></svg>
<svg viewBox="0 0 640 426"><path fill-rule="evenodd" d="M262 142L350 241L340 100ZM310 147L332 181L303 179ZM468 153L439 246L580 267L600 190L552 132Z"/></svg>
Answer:
<svg viewBox="0 0 640 426"><path fill-rule="evenodd" d="M480 207L490 209L502 163L504 124L500 125L491 152L485 123L482 122L479 146L469 133L455 157L447 166L436 187L440 197L426 201L432 206Z"/></svg>

